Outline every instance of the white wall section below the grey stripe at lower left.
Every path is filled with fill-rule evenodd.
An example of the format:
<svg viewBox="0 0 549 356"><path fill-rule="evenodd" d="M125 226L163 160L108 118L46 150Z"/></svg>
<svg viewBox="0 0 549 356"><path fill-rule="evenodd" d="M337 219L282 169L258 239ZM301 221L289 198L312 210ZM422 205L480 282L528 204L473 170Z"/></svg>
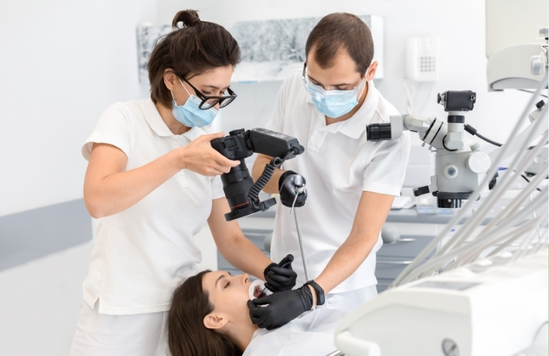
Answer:
<svg viewBox="0 0 549 356"><path fill-rule="evenodd" d="M0 355L67 356L93 242L0 272Z"/></svg>

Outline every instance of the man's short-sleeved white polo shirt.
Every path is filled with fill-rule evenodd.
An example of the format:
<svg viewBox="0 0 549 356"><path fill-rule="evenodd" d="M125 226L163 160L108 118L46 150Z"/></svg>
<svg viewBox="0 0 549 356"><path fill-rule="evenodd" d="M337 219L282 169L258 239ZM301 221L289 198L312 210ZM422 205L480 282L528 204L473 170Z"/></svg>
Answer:
<svg viewBox="0 0 549 356"><path fill-rule="evenodd" d="M366 125L389 122L398 111L368 82L368 94L361 108L348 120L326 125L302 83L302 71L294 70L282 84L275 112L265 127L297 137L305 152L289 159L282 169L302 174L307 180L307 202L299 209L310 278L317 278L330 258L349 236L361 194L364 191L399 195L410 152L410 137L369 142ZM368 217L366 216L366 219ZM355 273L331 293L356 290L377 283L374 276L376 251L381 235L370 255ZM289 208L278 204L271 258L279 261L292 253L292 268L297 282L305 282L304 269L294 217Z"/></svg>

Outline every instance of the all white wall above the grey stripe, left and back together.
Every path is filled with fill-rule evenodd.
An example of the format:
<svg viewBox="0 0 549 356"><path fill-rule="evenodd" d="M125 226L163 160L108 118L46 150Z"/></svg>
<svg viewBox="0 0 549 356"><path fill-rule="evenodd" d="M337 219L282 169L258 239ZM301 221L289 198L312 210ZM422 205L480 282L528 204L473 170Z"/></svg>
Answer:
<svg viewBox="0 0 549 356"><path fill-rule="evenodd" d="M148 95L138 84L135 25L170 23L187 8L220 23L334 11L384 16L386 73L376 85L401 112L406 38L439 36L441 80L420 85L414 111L443 117L437 92L476 90L467 120L493 140L506 140L528 98L488 93L484 2L478 0L1 1L0 216L82 196L80 148L98 116L112 103ZM233 85L240 97L225 109L225 130L262 125L279 85Z"/></svg>

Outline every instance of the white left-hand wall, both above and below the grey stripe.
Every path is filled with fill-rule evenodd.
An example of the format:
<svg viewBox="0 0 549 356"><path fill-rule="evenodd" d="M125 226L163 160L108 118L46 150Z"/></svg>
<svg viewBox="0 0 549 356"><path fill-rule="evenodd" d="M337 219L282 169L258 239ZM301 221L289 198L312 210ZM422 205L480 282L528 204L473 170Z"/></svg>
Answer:
<svg viewBox="0 0 549 356"><path fill-rule="evenodd" d="M0 1L0 216L82 196L98 116L147 95L143 21L155 0ZM0 355L68 355L92 245L1 271Z"/></svg>

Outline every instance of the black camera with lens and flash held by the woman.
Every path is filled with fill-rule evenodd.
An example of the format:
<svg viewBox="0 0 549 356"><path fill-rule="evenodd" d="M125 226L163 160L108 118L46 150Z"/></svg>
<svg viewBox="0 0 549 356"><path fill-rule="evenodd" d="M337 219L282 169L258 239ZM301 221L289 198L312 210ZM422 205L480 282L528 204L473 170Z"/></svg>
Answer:
<svg viewBox="0 0 549 356"><path fill-rule="evenodd" d="M276 167L280 167L286 159L304 152L304 147L299 145L297 138L262 128L248 131L234 130L229 132L228 136L212 140L211 143L221 155L235 161L240 160L237 167L232 167L230 172L221 174L223 192L231 209L230 213L225 214L227 221L254 214L257 211L265 211L275 205L275 198L260 201L261 189L269 182ZM270 164L267 164L255 183L245 162L245 158L250 157L254 152L275 157Z"/></svg>

